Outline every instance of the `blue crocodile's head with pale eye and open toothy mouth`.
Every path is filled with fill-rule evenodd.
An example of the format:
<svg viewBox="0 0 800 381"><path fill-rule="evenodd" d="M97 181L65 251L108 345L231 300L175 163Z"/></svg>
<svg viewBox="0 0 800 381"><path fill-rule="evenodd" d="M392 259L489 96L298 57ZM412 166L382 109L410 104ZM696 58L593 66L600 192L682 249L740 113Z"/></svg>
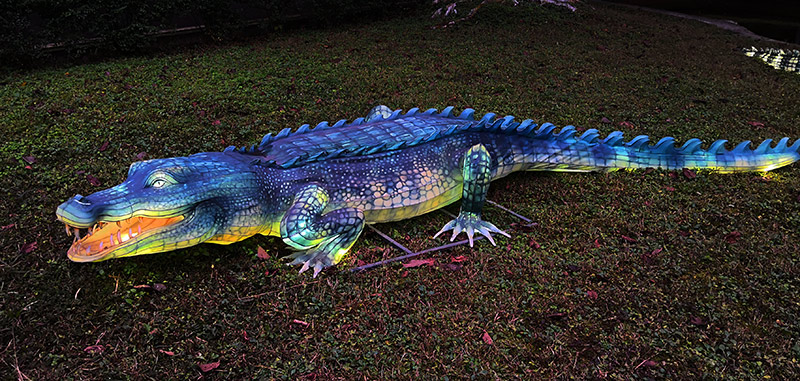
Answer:
<svg viewBox="0 0 800 381"><path fill-rule="evenodd" d="M72 197L56 210L67 234L75 235L67 256L95 262L158 253L228 232L237 207L257 205L250 193L258 192L257 176L239 156L218 152L136 162L122 184Z"/></svg>

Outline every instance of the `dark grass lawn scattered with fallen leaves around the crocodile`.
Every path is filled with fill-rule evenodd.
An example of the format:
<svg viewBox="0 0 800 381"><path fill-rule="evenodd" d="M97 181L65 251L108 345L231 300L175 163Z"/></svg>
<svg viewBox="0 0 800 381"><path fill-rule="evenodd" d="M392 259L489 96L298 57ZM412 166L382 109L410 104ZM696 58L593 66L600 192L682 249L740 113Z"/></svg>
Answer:
<svg viewBox="0 0 800 381"><path fill-rule="evenodd" d="M285 266L270 237L67 260L56 206L119 183L131 162L250 145L377 104L651 140L800 137L800 76L712 26L602 4L432 23L0 77L0 378L800 377L798 164L692 179L517 174L490 198L538 225L433 266L351 273L400 254L369 232L317 279ZM419 249L442 242L431 237L446 220L382 228Z"/></svg>

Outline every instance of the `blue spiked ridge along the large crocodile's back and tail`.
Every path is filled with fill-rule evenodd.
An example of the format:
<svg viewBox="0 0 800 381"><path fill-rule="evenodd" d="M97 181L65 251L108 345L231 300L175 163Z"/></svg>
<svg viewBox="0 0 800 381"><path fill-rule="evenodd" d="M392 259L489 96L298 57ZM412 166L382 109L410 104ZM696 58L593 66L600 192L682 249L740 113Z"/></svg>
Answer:
<svg viewBox="0 0 800 381"><path fill-rule="evenodd" d="M577 137L577 131L574 126L567 125L557 131L557 127L552 123L543 123L537 125L531 119L526 119L522 122L515 122L513 116L505 116L497 118L494 113L485 114L480 120L475 121L474 110L465 109L458 116L453 113L454 108L448 106L438 112L436 109L429 109L424 113L419 113L419 109L413 108L402 114L402 110L391 111L386 106L377 106L370 111L370 114L364 118L357 118L348 124L347 120L342 119L336 122L333 126L328 125L327 122L317 124L313 129L310 125L303 124L295 132L291 128L282 129L276 136L272 134L265 135L259 145L250 147L235 147L230 146L225 148L223 152L238 152L248 155L259 155L258 165L272 165L280 166L283 168L291 168L305 163L316 162L320 160L327 160L337 157L350 157L359 155L372 155L375 153L392 151L411 147L419 144L428 143L444 136L451 134L459 134L463 132L503 132L506 134L518 134L520 136L527 136L533 139L544 139L559 142L557 145L563 147L564 145L575 145L578 149L591 148L595 144L605 144L609 147L626 147L626 150L639 151L645 154L681 154L681 155L717 155L717 154L736 154L736 155L765 155L765 154L794 154L800 151L800 140L796 140L791 146L788 146L789 139L783 138L773 146L771 139L766 139L761 142L758 147L751 149L750 141L739 143L733 150L726 151L725 140L717 140L713 142L707 151L701 148L702 141L700 139L689 139L680 148L675 146L675 139L672 137L664 137L654 145L648 145L649 137L646 135L639 135L634 137L628 142L623 140L623 133L621 131L614 131L609 133L605 138L600 139L598 130L588 129ZM400 119L407 116L429 116L438 118L453 119L446 121L439 119L434 124L437 128L434 129L415 129L413 133L403 132L402 137L394 137L390 139L379 139L382 135L379 128L374 125L362 126L366 123L381 122L384 120ZM397 122L388 123L388 126L396 125ZM412 122L416 124L417 122ZM424 122L421 122L424 123ZM401 124L404 126L406 122ZM298 136L298 142L292 142L291 145L298 147L297 156L289 157L271 156L270 147L274 145L276 139L285 137L292 137L294 135L301 135L311 133L315 130L326 130L339 127L361 128L366 131L370 138L356 139L353 141L347 140L342 142L341 145L324 145L324 147L315 145L313 139L305 139L304 136ZM376 133L377 131L377 133ZM427 131L422 133L420 131ZM557 131L557 133L556 133ZM345 135L343 131L333 131L333 135L329 137L330 140L339 139ZM377 136L376 136L377 135ZM288 144L288 141L287 141ZM309 149L306 146L309 146ZM336 149L333 147L347 147ZM601 147L601 150L605 149ZM620 148L616 148L617 151ZM271 159L269 159L271 157Z"/></svg>

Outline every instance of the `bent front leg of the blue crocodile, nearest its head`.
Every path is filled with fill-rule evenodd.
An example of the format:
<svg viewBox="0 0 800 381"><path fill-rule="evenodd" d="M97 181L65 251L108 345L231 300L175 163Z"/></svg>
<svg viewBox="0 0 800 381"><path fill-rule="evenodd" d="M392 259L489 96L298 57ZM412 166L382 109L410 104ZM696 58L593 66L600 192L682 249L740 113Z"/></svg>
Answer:
<svg viewBox="0 0 800 381"><path fill-rule="evenodd" d="M364 212L341 208L322 214L328 193L319 185L303 188L281 220L281 238L299 250L289 265L303 264L300 272L314 268L314 277L344 257L364 230Z"/></svg>

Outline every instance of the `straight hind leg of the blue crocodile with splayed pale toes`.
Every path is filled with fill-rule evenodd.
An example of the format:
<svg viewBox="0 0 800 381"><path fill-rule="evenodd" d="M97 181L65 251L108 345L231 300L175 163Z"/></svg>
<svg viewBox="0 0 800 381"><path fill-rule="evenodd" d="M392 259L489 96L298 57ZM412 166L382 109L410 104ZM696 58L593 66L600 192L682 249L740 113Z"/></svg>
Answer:
<svg viewBox="0 0 800 381"><path fill-rule="evenodd" d="M509 235L498 229L491 222L481 220L481 210L486 202L486 192L489 191L489 183L492 181L492 158L489 151L483 144L476 144L464 154L464 164L462 165L462 175L464 177L464 190L461 195L461 212L456 219L450 221L442 230L439 230L433 238L448 230L453 230L450 241L462 232L467 233L469 246L472 247L472 236L479 232L489 239L492 245L494 239L491 233L500 233L506 237Z"/></svg>

